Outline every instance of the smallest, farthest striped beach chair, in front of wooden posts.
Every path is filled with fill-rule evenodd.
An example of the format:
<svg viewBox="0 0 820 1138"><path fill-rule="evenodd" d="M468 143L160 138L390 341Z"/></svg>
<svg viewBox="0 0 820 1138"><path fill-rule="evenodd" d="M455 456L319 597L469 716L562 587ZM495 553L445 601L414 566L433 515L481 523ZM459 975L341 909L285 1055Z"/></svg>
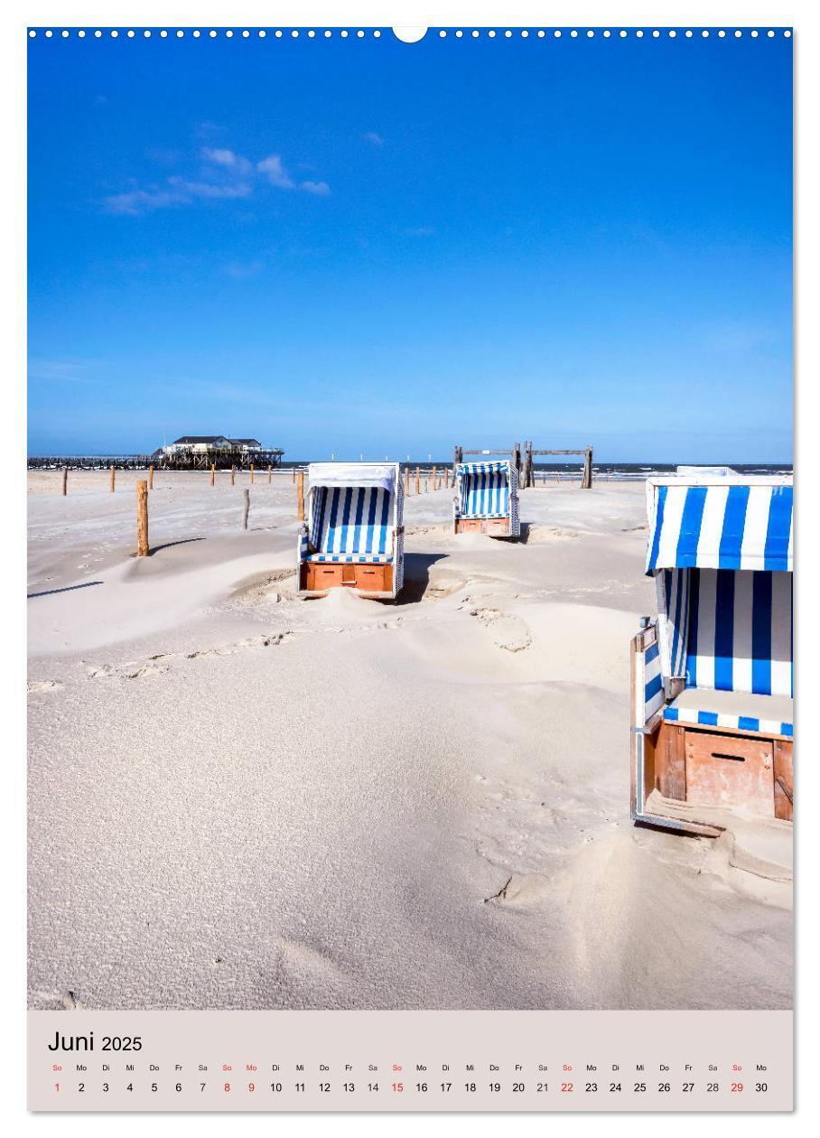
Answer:
<svg viewBox="0 0 820 1138"><path fill-rule="evenodd" d="M456 463L453 533L519 537L519 471L510 459Z"/></svg>

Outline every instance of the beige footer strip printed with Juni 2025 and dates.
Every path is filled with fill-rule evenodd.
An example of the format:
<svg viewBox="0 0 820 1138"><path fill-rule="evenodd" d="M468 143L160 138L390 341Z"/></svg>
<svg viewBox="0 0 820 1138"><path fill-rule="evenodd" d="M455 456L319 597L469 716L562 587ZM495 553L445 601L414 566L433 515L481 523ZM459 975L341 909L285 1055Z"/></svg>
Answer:
<svg viewBox="0 0 820 1138"><path fill-rule="evenodd" d="M789 1111L790 1012L30 1012L33 1111Z"/></svg>

